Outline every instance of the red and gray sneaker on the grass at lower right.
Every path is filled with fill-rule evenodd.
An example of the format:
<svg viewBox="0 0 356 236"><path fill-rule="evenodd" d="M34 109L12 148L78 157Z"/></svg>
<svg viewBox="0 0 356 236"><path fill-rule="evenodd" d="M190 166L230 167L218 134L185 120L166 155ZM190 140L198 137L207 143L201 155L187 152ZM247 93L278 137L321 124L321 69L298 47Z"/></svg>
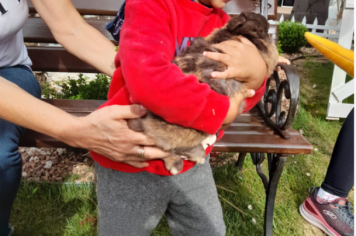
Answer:
<svg viewBox="0 0 356 236"><path fill-rule="evenodd" d="M346 198L338 198L333 202L319 203L316 201L319 188L315 188L299 207L303 218L324 231L329 236L353 236L354 216L351 205Z"/></svg>

